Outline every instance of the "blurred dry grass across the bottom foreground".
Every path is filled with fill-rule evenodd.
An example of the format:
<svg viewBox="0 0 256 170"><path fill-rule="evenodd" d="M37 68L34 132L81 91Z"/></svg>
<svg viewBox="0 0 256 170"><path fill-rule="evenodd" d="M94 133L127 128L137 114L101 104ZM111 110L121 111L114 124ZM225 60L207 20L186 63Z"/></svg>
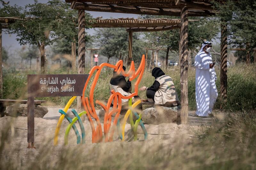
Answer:
<svg viewBox="0 0 256 170"><path fill-rule="evenodd" d="M228 115L202 126L191 141L101 143L52 147L21 152L12 122L0 133L0 169L255 169L255 112ZM19 144L19 141L15 141ZM91 146L90 146L91 145ZM25 157L24 155L25 154Z"/></svg>

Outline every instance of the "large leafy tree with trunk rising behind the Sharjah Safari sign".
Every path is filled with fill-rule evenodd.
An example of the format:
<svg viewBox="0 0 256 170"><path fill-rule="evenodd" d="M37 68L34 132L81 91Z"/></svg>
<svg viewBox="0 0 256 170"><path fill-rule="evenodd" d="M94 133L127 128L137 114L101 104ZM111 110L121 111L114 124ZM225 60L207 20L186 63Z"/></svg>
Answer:
<svg viewBox="0 0 256 170"><path fill-rule="evenodd" d="M47 59L45 46L52 45L56 40L64 38L70 42L77 38L77 11L72 10L64 1L50 0L46 4L28 4L25 9L18 6L4 5L1 16L8 15L26 18L25 21L16 21L11 24L8 33L16 33L21 45L36 45L41 55L41 71L47 71ZM19 14L19 15L18 15ZM89 14L85 16L86 21L91 19ZM86 28L89 26L87 25Z"/></svg>

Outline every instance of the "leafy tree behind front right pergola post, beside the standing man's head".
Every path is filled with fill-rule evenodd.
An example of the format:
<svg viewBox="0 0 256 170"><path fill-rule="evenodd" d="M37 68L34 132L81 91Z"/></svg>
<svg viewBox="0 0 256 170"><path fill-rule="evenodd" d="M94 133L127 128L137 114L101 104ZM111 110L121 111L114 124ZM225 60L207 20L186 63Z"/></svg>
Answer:
<svg viewBox="0 0 256 170"><path fill-rule="evenodd" d="M170 18L179 19L173 16L146 16L142 18ZM204 40L211 40L219 33L219 24L216 24L215 18L189 17L198 21L188 23L188 48L195 50L200 47ZM179 53L180 29L159 32L146 32L145 39L150 48L166 48L166 61L168 60L169 50Z"/></svg>

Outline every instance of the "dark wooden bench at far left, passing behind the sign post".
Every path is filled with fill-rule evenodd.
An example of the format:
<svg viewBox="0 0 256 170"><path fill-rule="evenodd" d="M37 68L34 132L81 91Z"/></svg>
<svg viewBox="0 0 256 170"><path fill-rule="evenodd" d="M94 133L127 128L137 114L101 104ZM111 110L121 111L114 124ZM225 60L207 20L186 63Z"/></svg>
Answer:
<svg viewBox="0 0 256 170"><path fill-rule="evenodd" d="M28 100L9 100L9 99L0 99L0 117L4 116L4 111L8 104L20 103L20 104L28 104ZM46 103L46 100L35 100L35 106L40 105L42 103Z"/></svg>

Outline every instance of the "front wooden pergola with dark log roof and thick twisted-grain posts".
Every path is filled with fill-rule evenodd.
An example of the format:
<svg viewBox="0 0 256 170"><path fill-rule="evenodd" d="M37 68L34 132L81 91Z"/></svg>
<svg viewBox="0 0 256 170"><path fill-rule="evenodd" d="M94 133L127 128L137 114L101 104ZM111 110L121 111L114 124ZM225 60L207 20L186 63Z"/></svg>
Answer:
<svg viewBox="0 0 256 170"><path fill-rule="evenodd" d="M219 0L216 0L219 1ZM78 73L84 73L85 13L84 11L116 12L145 15L180 16L180 91L182 124L188 124L188 16L214 16L210 0L66 0L78 10ZM224 22L225 23L225 22ZM227 98L227 24L221 24L220 97ZM147 29L147 27L144 27ZM131 28L136 30L135 28ZM140 27L137 28L141 29ZM156 29L156 28L155 28ZM131 34L132 32L129 32ZM129 35L131 37L131 35ZM130 41L132 42L132 41ZM130 45L131 47L131 45Z"/></svg>

